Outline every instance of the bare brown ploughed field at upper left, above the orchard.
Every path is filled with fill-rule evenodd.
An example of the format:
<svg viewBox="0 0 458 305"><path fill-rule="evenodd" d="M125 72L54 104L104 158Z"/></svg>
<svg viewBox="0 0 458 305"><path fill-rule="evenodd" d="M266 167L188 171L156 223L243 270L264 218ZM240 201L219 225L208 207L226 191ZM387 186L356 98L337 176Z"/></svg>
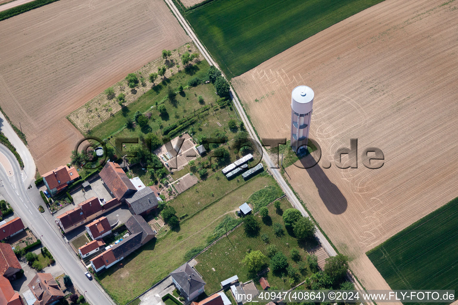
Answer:
<svg viewBox="0 0 458 305"><path fill-rule="evenodd" d="M66 115L189 40L163 0L60 0L0 21L0 37L0 104L42 173L81 139Z"/></svg>

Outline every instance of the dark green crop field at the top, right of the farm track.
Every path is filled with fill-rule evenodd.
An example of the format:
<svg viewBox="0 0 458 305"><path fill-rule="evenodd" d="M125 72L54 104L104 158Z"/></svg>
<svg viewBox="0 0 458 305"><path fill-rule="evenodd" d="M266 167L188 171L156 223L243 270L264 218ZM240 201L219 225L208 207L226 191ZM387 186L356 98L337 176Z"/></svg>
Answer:
<svg viewBox="0 0 458 305"><path fill-rule="evenodd" d="M229 78L382 0L214 0L186 19Z"/></svg>

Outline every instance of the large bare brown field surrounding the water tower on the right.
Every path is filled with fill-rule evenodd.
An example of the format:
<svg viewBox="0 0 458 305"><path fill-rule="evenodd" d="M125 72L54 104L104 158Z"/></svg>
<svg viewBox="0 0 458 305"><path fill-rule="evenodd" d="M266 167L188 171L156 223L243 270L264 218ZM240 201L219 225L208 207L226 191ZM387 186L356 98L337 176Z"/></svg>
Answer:
<svg viewBox="0 0 458 305"><path fill-rule="evenodd" d="M365 251L458 196L458 1L444 2L386 0L232 80L261 137L289 137L291 90L315 91L322 161L286 176L367 289L388 286ZM359 168L339 169L350 138ZM370 146L381 169L361 162Z"/></svg>

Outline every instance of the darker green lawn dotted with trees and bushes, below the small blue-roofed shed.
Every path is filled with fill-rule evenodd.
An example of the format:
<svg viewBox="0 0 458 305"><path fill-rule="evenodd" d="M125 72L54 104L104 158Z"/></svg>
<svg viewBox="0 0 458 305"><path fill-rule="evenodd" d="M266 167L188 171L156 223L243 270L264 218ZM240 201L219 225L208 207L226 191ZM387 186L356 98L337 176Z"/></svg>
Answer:
<svg viewBox="0 0 458 305"><path fill-rule="evenodd" d="M291 208L291 204L286 198L280 199L281 209L284 211ZM280 213L282 214L282 213ZM269 216L271 217L271 222L262 223L261 218L259 222L261 224L262 234L269 235L269 243L277 246L279 251L283 251L284 255L288 257L288 262L296 267L296 263L292 261L290 257L290 251L293 248L298 248L302 257L302 260L305 259L306 250L311 249L317 245L316 241L310 240L307 242L300 242L295 237L288 234L285 230L285 235L281 238L275 237L271 225L273 223L280 223L284 225L282 216L275 211L273 204L269 206ZM207 295L213 294L218 289L221 289L220 282L226 278L229 278L233 275L237 275L241 282L250 280L248 271L245 267L245 264L242 262L243 258L246 255L248 248L251 250L260 250L264 255L267 256L266 244L261 240L260 235L256 237L247 237L243 226L238 227L232 231L228 238L223 238L211 246L207 251L203 252L196 257L197 265L196 270L202 275L207 285L205 286L205 291ZM215 271L213 271L213 269ZM305 276L310 275L310 270L307 269L307 273L301 274L300 281L304 280ZM277 286L278 289L290 289L291 285L288 283L288 277L285 276L281 278L277 275L273 275L271 271L264 275L269 284ZM259 286L259 277L254 278L256 286ZM300 282L299 281L299 282ZM299 283L298 282L298 283Z"/></svg>

